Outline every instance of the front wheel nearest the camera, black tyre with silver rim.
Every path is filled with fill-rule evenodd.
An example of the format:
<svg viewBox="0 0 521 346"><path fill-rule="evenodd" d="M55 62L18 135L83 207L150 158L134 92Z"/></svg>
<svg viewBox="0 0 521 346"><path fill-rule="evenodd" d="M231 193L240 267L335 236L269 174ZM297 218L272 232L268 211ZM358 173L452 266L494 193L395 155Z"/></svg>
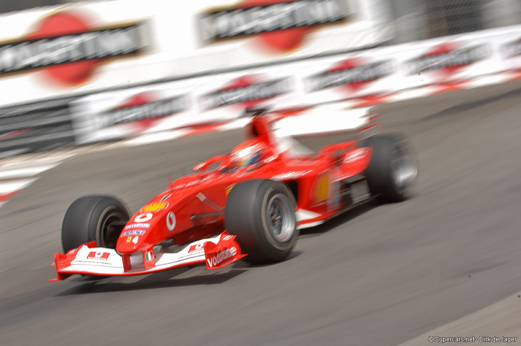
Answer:
<svg viewBox="0 0 521 346"><path fill-rule="evenodd" d="M228 195L225 227L248 254L244 261L282 261L291 253L298 235L293 194L286 185L272 180L241 182Z"/></svg>

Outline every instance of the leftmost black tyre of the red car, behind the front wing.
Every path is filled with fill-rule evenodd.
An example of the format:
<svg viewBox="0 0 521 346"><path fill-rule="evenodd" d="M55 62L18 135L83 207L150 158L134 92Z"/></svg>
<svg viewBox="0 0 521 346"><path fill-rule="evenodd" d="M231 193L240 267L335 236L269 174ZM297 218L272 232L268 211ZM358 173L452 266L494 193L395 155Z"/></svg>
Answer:
<svg viewBox="0 0 521 346"><path fill-rule="evenodd" d="M128 221L127 208L114 197L85 196L74 201L61 226L61 244L65 253L96 241L96 246L115 249L122 227L111 223Z"/></svg>

